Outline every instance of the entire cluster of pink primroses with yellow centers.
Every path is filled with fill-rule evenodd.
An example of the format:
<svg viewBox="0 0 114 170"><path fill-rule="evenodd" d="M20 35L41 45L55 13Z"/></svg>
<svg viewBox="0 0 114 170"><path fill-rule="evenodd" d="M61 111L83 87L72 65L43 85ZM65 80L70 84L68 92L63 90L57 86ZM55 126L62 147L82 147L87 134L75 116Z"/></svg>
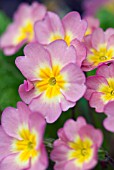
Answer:
<svg viewBox="0 0 114 170"><path fill-rule="evenodd" d="M103 31L93 17L70 12L62 19L39 3L22 4L1 36L0 47L13 55L25 77L19 86L22 102L6 108L0 126L0 170L46 170L46 123L54 123L84 97L104 112L104 127L114 132L114 29ZM86 78L84 72L96 69ZM67 114L67 113L66 113ZM58 130L50 158L54 170L89 170L98 162L101 130L79 116Z"/></svg>

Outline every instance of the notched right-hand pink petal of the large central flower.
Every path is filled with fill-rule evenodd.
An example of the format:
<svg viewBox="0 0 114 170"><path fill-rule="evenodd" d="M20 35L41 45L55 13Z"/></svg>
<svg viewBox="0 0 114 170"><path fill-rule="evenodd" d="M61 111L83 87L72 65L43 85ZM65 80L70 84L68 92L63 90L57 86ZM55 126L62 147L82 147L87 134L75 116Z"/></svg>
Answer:
<svg viewBox="0 0 114 170"><path fill-rule="evenodd" d="M61 70L61 75L67 74L68 86L61 89L62 94L69 101L76 102L85 93L85 76L82 70L75 64L68 64Z"/></svg>

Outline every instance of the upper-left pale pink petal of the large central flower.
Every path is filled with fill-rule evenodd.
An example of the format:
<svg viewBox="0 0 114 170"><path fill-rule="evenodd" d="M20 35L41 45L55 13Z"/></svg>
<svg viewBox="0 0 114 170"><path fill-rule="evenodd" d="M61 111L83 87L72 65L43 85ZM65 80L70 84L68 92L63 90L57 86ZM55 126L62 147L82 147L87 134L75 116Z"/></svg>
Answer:
<svg viewBox="0 0 114 170"><path fill-rule="evenodd" d="M16 58L16 66L22 74L29 80L38 80L35 74L41 65L51 67L51 60L48 52L38 43L30 43L24 48L25 56Z"/></svg>

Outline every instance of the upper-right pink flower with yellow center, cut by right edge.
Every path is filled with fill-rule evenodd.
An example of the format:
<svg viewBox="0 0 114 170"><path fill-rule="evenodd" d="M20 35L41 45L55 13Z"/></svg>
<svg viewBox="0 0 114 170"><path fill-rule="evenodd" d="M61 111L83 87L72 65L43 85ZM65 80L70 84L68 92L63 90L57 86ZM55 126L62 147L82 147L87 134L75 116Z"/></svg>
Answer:
<svg viewBox="0 0 114 170"><path fill-rule="evenodd" d="M105 32L96 29L92 35L85 37L87 57L82 63L84 71L90 71L103 63L114 61L114 29Z"/></svg>

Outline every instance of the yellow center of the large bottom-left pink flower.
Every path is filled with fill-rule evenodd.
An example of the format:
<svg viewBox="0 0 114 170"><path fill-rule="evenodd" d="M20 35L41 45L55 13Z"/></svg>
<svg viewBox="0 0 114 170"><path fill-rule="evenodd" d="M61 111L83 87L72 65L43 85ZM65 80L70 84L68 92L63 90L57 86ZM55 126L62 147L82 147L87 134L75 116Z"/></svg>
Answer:
<svg viewBox="0 0 114 170"><path fill-rule="evenodd" d="M26 164L29 162L30 158L32 161L35 161L40 154L40 152L37 150L37 132L34 129L30 131L27 125L22 125L18 129L17 133L20 137L20 140L13 140L11 146L13 153L19 153L16 157L16 162L18 164Z"/></svg>

